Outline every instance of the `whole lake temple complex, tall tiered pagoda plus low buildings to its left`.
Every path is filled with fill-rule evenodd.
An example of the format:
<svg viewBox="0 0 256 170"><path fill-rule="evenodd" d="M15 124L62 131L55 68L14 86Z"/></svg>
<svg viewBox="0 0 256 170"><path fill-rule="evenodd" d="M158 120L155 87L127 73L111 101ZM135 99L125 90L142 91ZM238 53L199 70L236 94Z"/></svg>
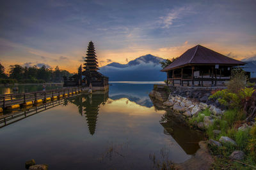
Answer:
<svg viewBox="0 0 256 170"><path fill-rule="evenodd" d="M85 86L92 87L93 90L108 89L108 77L98 72L99 66L92 41L88 45L83 65L84 71L82 71L82 66L80 66L77 74L74 74L68 79L64 77L65 87Z"/></svg>

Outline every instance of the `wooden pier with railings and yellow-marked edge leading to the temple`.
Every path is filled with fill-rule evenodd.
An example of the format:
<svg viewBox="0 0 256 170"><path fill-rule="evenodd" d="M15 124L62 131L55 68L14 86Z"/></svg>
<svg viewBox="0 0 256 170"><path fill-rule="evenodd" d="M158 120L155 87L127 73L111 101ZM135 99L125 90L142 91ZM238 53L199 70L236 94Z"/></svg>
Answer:
<svg viewBox="0 0 256 170"><path fill-rule="evenodd" d="M20 106L28 106L35 103L42 103L62 97L73 96L83 90L88 90L86 87L65 87L61 89L45 90L38 92L20 93L20 94L2 94L0 95L0 108L15 109Z"/></svg>

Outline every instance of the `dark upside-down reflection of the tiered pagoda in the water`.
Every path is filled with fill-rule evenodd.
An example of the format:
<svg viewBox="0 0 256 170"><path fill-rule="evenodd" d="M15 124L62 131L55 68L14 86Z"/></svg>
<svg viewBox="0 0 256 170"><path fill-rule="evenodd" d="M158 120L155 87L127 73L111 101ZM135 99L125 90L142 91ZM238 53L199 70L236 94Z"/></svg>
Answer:
<svg viewBox="0 0 256 170"><path fill-rule="evenodd" d="M79 113L85 115L90 134L95 133L100 104L104 105L108 100L108 92L93 92L82 94L70 100L77 106Z"/></svg>

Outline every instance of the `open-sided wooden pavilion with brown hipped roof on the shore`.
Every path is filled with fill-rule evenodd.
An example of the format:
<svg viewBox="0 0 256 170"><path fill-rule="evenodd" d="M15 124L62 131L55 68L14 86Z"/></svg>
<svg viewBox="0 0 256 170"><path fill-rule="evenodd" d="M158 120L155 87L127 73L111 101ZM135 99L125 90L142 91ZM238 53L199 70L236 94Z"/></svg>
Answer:
<svg viewBox="0 0 256 170"><path fill-rule="evenodd" d="M244 62L231 59L209 48L196 45L161 71L167 73L167 84L181 86L222 86L230 80L231 69Z"/></svg>

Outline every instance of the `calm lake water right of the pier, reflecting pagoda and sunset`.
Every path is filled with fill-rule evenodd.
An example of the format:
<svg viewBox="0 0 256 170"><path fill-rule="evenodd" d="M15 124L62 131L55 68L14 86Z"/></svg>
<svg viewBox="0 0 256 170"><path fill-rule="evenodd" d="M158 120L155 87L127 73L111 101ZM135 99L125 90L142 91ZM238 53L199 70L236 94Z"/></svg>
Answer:
<svg viewBox="0 0 256 170"><path fill-rule="evenodd" d="M200 134L175 118L159 123L166 111L150 101L152 84L111 84L1 128L0 169L29 159L49 169L152 169L150 155L184 162L196 152Z"/></svg>

